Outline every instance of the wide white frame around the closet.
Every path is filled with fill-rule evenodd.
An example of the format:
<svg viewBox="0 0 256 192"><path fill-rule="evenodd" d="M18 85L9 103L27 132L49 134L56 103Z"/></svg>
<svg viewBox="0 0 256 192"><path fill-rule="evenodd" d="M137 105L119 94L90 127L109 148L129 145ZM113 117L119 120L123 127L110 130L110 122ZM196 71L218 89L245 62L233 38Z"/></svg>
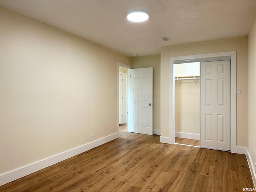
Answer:
<svg viewBox="0 0 256 192"><path fill-rule="evenodd" d="M230 79L230 151L236 153L236 51L218 52L209 54L198 54L188 56L178 56L170 58L170 75L169 75L169 141L173 144L175 141L175 81L173 65L186 62L202 62L230 60L231 79ZM160 137L161 142L161 137ZM164 141L166 142L166 141Z"/></svg>

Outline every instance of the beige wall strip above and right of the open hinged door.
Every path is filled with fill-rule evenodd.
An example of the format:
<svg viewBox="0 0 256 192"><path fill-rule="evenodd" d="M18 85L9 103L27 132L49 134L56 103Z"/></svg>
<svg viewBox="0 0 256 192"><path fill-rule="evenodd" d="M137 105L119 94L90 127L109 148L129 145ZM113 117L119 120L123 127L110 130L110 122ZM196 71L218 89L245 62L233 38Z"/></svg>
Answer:
<svg viewBox="0 0 256 192"><path fill-rule="evenodd" d="M160 55L135 57L132 66L153 67L153 129L160 130Z"/></svg>

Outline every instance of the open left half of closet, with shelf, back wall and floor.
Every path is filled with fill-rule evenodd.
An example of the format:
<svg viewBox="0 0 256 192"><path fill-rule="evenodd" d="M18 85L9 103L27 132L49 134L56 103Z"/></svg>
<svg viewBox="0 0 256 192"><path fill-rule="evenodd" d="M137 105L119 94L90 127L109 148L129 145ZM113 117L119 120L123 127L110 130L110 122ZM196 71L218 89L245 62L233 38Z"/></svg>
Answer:
<svg viewBox="0 0 256 192"><path fill-rule="evenodd" d="M175 143L200 147L200 62L174 64Z"/></svg>

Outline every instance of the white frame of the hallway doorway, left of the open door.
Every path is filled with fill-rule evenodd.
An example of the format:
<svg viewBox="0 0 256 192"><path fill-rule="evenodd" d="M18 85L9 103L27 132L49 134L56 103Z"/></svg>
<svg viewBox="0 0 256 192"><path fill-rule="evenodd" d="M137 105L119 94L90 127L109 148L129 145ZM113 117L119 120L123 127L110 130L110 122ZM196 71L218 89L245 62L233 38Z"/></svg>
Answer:
<svg viewBox="0 0 256 192"><path fill-rule="evenodd" d="M116 70L116 133L119 137L119 67L128 69L128 77L130 76L130 69L133 67L124 63L117 62ZM130 87L130 78L128 78L128 87ZM130 89L128 88L128 98L127 98L127 110L128 110L128 119L127 119L127 131L130 132Z"/></svg>

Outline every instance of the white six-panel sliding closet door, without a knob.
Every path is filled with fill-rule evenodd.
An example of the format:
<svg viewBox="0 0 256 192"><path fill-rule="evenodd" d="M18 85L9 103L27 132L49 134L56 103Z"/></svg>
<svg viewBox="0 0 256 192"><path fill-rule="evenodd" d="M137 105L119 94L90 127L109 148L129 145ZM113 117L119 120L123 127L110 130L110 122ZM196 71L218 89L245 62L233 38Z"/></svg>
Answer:
<svg viewBox="0 0 256 192"><path fill-rule="evenodd" d="M230 60L200 64L201 146L230 150Z"/></svg>

